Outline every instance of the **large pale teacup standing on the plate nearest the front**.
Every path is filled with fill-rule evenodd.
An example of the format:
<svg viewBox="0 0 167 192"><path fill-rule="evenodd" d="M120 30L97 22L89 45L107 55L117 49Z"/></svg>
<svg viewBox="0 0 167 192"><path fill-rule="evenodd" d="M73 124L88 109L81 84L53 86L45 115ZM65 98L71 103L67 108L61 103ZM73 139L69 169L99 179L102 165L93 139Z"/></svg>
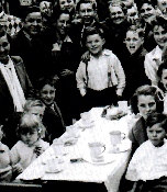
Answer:
<svg viewBox="0 0 167 192"><path fill-rule="evenodd" d="M100 142L89 143L90 157L93 162L103 161L103 151L105 150L105 146Z"/></svg>

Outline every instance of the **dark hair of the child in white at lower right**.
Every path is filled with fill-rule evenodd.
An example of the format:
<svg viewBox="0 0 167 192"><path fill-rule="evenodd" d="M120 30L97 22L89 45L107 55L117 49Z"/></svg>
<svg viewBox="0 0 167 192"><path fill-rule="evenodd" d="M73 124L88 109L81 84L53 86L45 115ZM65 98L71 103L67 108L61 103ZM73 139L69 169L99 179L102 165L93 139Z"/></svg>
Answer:
<svg viewBox="0 0 167 192"><path fill-rule="evenodd" d="M167 115L163 113L152 113L146 120L146 126L152 127L155 124L159 124L167 132Z"/></svg>

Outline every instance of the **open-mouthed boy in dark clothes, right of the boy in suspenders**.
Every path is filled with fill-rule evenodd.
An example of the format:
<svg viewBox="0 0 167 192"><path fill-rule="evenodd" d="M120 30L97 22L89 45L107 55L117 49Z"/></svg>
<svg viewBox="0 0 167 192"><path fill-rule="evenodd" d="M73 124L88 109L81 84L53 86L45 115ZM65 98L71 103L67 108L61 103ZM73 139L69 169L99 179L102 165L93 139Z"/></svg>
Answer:
<svg viewBox="0 0 167 192"><path fill-rule="evenodd" d="M126 53L121 64L126 77L126 87L123 94L124 99L129 101L138 87L149 83L144 68L144 59L147 52L143 47L143 29L137 25L131 25L126 31L124 43L126 45Z"/></svg>

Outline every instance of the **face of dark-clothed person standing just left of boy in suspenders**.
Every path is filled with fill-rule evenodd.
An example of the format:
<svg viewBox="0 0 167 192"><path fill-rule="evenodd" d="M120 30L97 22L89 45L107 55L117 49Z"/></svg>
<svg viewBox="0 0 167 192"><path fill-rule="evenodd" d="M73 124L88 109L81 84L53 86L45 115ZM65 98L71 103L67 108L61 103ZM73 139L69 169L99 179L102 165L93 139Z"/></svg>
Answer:
<svg viewBox="0 0 167 192"><path fill-rule="evenodd" d="M70 16L68 13L62 13L59 15L59 19L57 20L57 30L59 31L59 34L65 35L68 33L70 29Z"/></svg>

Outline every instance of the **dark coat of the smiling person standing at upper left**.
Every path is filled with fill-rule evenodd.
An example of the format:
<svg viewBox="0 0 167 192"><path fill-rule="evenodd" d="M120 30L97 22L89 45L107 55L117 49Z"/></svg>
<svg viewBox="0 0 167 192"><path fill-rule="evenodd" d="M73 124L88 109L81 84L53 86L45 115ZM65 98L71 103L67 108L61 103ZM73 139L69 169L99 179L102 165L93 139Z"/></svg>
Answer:
<svg viewBox="0 0 167 192"><path fill-rule="evenodd" d="M38 78L47 75L51 67L51 45L43 34L30 35L21 30L11 42L11 55L19 55L22 57L29 78L34 86Z"/></svg>

